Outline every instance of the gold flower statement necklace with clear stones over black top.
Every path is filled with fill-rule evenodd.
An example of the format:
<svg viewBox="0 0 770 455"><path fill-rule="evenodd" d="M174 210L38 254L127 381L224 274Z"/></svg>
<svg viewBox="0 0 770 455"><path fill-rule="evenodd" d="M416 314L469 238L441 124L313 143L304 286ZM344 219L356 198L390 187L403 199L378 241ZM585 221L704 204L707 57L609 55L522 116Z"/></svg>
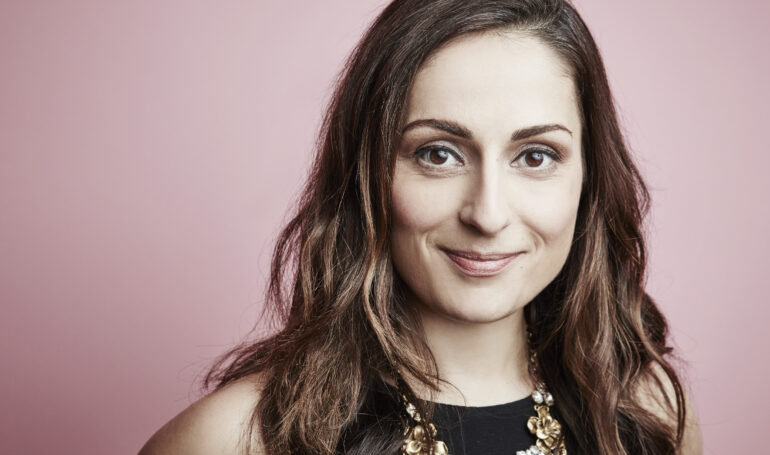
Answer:
<svg viewBox="0 0 770 455"><path fill-rule="evenodd" d="M528 337L531 338L531 336ZM538 377L536 360L535 352L530 349L529 362L535 377ZM406 395L403 393L399 395L410 420L404 427L405 439L401 445L401 455L449 455L446 444L436 439L436 427L433 423L422 419L417 407L409 402ZM537 436L537 442L526 450L518 450L516 455L567 455L561 434L561 424L548 412L548 408L553 406L553 395L545 388L544 382L537 381L531 398L535 403L537 416L527 420L527 428Z"/></svg>

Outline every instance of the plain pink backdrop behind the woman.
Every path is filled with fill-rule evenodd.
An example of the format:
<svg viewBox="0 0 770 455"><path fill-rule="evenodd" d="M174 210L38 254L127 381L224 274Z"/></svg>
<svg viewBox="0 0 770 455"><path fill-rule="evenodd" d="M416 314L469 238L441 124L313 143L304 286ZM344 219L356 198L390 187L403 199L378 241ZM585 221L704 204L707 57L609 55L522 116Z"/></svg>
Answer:
<svg viewBox="0 0 770 455"><path fill-rule="evenodd" d="M579 0L706 453L768 419L770 7ZM135 453L256 320L374 0L0 2L0 452ZM757 453L757 452L754 452Z"/></svg>

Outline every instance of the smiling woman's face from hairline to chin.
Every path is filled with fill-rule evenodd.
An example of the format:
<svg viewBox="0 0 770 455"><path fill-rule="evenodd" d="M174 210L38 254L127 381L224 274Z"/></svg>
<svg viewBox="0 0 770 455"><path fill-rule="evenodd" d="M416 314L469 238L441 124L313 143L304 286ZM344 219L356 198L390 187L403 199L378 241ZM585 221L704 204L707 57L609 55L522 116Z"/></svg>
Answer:
<svg viewBox="0 0 770 455"><path fill-rule="evenodd" d="M567 68L522 34L465 35L419 70L392 190L410 300L453 320L522 308L564 265L582 184Z"/></svg>

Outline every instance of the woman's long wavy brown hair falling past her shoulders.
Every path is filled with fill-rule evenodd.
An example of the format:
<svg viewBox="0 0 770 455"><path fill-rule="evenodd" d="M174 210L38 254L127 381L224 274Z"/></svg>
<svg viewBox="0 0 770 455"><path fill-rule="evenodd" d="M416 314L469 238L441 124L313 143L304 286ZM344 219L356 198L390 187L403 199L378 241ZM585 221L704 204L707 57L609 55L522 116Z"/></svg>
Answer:
<svg viewBox="0 0 770 455"><path fill-rule="evenodd" d="M267 453L392 453L398 419L369 426L359 419L372 385L394 372L435 385L433 358L390 260L393 152L421 63L452 38L496 29L554 49L572 72L582 114L585 179L574 242L559 275L525 312L567 447L573 454L675 453L683 391L666 359L666 321L644 291L649 194L597 46L563 0L395 0L355 48L273 253L266 308L279 328L226 353L205 379L222 387L263 375L251 431ZM667 405L676 426L645 410L633 392L653 365L673 384L675 403ZM661 381L652 383L665 396Z"/></svg>

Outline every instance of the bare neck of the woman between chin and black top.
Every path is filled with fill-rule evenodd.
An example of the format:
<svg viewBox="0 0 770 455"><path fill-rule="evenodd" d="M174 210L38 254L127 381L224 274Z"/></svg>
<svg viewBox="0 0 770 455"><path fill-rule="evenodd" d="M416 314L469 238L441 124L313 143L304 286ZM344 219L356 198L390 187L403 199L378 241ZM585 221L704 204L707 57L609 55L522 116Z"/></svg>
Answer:
<svg viewBox="0 0 770 455"><path fill-rule="evenodd" d="M438 392L413 383L421 398L489 406L524 398L534 389L523 309L482 323L458 321L422 308L420 316L442 380Z"/></svg>

